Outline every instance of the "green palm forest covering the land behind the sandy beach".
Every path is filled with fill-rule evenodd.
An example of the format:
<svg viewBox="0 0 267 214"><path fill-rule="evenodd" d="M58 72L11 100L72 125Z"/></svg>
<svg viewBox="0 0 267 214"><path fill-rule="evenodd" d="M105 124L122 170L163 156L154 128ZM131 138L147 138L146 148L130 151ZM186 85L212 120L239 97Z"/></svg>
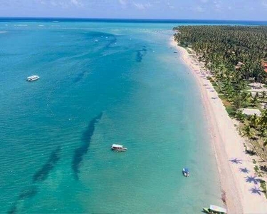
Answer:
<svg viewBox="0 0 267 214"><path fill-rule="evenodd" d="M174 39L179 46L190 46L198 61L211 73L209 80L229 116L241 122L241 133L248 138L249 155L267 160L267 102L262 91L251 94L250 83L267 83L267 26L179 26ZM245 116L240 108L258 108L261 116ZM258 168L257 168L258 170Z"/></svg>

